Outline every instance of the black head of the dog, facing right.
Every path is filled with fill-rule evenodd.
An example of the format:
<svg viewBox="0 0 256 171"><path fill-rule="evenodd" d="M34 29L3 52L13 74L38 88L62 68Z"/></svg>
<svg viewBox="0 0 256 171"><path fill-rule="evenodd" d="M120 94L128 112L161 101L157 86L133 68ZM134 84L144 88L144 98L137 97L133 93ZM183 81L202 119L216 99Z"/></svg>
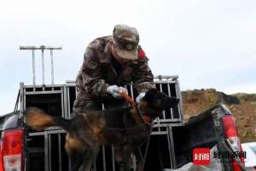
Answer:
<svg viewBox="0 0 256 171"><path fill-rule="evenodd" d="M156 88L149 89L140 102L140 108L149 117L160 117L162 111L175 107L179 99L161 93Z"/></svg>

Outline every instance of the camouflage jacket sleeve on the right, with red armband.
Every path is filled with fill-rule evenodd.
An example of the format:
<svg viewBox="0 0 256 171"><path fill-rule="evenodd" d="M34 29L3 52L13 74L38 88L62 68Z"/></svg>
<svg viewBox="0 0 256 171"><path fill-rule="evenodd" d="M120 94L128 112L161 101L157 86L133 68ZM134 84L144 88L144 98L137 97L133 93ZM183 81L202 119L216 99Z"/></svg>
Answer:
<svg viewBox="0 0 256 171"><path fill-rule="evenodd" d="M138 65L133 76L133 83L138 93L154 88L154 76L148 66L148 58L140 46L138 48Z"/></svg>

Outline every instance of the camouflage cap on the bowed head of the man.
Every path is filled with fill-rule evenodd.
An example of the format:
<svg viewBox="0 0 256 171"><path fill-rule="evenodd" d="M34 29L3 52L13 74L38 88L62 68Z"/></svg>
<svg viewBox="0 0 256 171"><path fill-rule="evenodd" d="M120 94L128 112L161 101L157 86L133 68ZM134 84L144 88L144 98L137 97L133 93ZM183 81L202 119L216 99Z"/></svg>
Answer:
<svg viewBox="0 0 256 171"><path fill-rule="evenodd" d="M113 42L120 58L137 60L139 35L136 28L117 25L113 29Z"/></svg>

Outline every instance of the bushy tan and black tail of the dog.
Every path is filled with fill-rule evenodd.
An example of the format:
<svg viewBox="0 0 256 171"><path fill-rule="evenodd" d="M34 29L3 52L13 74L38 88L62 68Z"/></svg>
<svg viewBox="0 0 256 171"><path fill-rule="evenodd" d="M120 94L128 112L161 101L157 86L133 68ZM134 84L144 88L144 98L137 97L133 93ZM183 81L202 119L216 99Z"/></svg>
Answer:
<svg viewBox="0 0 256 171"><path fill-rule="evenodd" d="M70 121L62 117L52 117L43 110L36 107L27 108L25 111L26 124L35 130L44 130L51 126L59 126L65 130L69 129Z"/></svg>

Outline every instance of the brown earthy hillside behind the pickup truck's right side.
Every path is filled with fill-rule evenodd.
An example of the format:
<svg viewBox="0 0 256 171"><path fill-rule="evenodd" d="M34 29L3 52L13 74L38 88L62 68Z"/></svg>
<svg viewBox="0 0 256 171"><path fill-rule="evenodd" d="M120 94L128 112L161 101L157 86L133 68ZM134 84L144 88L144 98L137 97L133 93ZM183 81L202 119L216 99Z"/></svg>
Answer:
<svg viewBox="0 0 256 171"><path fill-rule="evenodd" d="M183 91L182 96L185 122L189 117L222 102L236 117L241 142L256 141L256 94L227 95L211 88Z"/></svg>

